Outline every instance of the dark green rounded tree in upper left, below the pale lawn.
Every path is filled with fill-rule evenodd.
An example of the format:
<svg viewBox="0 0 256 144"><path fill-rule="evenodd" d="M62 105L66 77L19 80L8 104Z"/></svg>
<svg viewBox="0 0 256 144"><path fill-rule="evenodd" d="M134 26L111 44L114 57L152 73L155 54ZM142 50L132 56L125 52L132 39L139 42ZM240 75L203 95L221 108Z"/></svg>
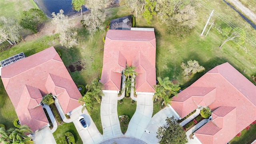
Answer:
<svg viewBox="0 0 256 144"><path fill-rule="evenodd" d="M40 24L43 24L47 20L44 12L36 8L29 9L28 11L23 11L22 15L23 18L20 21L20 25L23 28L27 28L34 33L37 33Z"/></svg>

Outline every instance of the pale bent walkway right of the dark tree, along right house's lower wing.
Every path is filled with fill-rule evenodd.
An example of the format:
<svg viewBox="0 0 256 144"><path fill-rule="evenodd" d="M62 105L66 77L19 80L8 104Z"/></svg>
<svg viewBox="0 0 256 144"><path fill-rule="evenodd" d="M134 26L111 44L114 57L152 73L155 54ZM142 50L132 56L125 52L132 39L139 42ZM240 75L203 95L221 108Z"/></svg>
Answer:
<svg viewBox="0 0 256 144"><path fill-rule="evenodd" d="M189 136L190 134L192 134L193 132L195 132L196 130L198 130L198 128L200 128L201 126L203 126L204 124L206 124L206 122L208 122L208 119L204 119L200 122L198 122L198 124L196 124L195 126L193 126L192 128L190 128L187 132L186 132L186 136L188 139L188 143L187 144L201 144L201 142L197 139L197 138L193 138L190 139Z"/></svg>

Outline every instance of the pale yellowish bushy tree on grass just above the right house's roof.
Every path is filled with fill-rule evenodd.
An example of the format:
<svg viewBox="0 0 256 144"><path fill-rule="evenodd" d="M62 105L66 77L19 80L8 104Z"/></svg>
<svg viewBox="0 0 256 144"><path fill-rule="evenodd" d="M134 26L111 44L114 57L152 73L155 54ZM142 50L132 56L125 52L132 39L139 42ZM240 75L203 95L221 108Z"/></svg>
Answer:
<svg viewBox="0 0 256 144"><path fill-rule="evenodd" d="M182 73L185 80L188 80L188 76L190 76L191 74L195 74L197 72L202 72L205 70L205 68L203 66L200 66L198 64L198 61L196 60L188 60L187 63L182 62L181 68L184 69Z"/></svg>

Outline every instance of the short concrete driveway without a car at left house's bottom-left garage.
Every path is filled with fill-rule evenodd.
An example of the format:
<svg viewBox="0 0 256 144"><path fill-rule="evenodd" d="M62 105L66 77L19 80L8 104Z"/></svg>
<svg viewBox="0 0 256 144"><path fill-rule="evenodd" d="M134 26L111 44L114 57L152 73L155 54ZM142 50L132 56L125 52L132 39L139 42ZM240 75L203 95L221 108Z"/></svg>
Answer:
<svg viewBox="0 0 256 144"><path fill-rule="evenodd" d="M32 135L32 140L34 144L56 144L55 139L52 135L52 132L48 126L35 132Z"/></svg>

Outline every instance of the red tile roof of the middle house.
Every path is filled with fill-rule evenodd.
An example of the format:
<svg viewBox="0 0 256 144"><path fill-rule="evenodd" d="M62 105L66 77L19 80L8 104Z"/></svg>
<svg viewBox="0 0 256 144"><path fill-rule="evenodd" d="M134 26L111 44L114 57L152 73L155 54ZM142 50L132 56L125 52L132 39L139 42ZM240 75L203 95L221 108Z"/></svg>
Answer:
<svg viewBox="0 0 256 144"><path fill-rule="evenodd" d="M105 90L120 90L121 71L135 66L136 92L155 92L156 38L154 31L108 30L101 82Z"/></svg>

